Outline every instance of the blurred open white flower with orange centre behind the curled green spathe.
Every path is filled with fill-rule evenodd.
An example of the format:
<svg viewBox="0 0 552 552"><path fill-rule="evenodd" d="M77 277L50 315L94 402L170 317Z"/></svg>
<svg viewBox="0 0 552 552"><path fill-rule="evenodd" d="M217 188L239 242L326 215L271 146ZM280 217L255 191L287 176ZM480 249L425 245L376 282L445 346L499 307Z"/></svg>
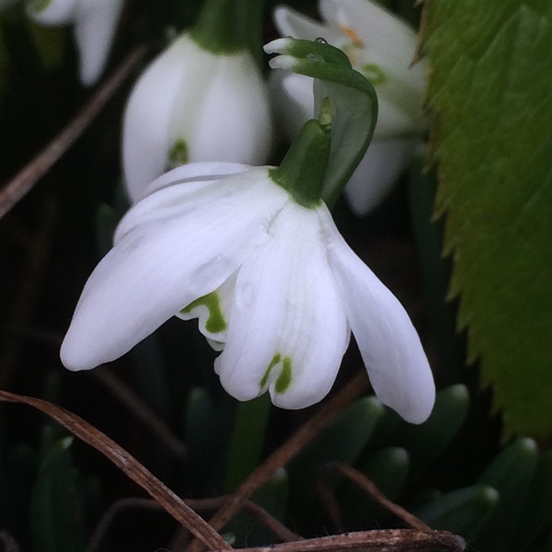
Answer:
<svg viewBox="0 0 552 552"><path fill-rule="evenodd" d="M279 6L275 25L284 37L322 37L341 48L375 87L379 115L373 141L345 188L353 211L365 215L383 199L420 145L424 63L411 66L415 32L375 1L319 0L319 12L324 23ZM277 119L293 137L313 116L312 79L279 70L270 85Z"/></svg>

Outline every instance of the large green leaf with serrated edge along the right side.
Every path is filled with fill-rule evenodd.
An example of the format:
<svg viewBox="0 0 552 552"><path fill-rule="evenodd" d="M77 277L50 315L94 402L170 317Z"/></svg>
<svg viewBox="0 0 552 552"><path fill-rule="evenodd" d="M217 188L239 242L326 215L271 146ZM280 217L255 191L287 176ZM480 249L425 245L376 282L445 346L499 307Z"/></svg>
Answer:
<svg viewBox="0 0 552 552"><path fill-rule="evenodd" d="M431 0L427 99L451 295L506 432L552 431L552 3Z"/></svg>

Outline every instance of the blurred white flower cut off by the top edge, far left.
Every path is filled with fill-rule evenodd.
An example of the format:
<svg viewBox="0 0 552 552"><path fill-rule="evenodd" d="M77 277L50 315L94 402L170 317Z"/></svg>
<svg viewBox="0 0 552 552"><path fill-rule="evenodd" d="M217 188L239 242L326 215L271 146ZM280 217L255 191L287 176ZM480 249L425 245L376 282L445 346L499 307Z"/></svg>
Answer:
<svg viewBox="0 0 552 552"><path fill-rule="evenodd" d="M91 86L106 65L123 1L29 0L27 12L42 25L75 24L81 82Z"/></svg>

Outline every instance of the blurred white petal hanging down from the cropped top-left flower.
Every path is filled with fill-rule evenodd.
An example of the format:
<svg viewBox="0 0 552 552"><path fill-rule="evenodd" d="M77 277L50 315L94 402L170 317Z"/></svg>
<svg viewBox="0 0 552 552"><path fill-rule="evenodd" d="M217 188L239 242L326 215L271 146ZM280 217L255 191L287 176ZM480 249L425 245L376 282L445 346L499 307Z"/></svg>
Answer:
<svg viewBox="0 0 552 552"><path fill-rule="evenodd" d="M94 84L106 65L123 0L81 2L75 21L75 39L80 53L81 82Z"/></svg>

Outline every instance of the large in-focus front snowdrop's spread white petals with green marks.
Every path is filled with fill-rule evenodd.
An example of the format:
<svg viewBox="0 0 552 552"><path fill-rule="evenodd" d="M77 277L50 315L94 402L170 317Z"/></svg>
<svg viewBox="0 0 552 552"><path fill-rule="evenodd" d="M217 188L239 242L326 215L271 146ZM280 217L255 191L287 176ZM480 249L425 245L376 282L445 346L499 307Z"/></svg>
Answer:
<svg viewBox="0 0 552 552"><path fill-rule="evenodd" d="M325 204L299 205L270 168L198 163L155 181L121 220L61 348L71 370L123 355L173 315L222 348L226 391L303 408L328 393L350 331L380 400L428 417L433 377L400 302L353 253Z"/></svg>

